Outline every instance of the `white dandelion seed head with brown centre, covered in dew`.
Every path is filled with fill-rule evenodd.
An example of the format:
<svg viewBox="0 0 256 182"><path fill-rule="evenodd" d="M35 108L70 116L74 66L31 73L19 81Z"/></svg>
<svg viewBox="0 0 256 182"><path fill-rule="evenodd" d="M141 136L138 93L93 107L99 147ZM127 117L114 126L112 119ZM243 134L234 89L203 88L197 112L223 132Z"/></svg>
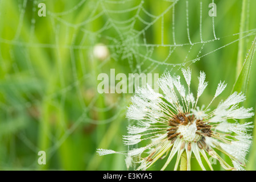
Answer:
<svg viewBox="0 0 256 182"><path fill-rule="evenodd" d="M220 81L212 101L207 107L197 106L208 82L205 73L200 72L196 97L191 93L191 69L182 69L188 89L181 84L180 76L165 73L159 79L163 94L156 93L150 86L138 90L128 107L126 117L135 120L135 125L127 127L128 134L123 136L126 145L133 146L127 152L98 149L99 155L125 154L127 167L134 163L138 170L146 170L158 159L166 159L164 170L176 155L174 170L177 170L181 155L186 156L185 169L191 170L191 158L195 157L199 166L205 170L203 160L213 170L209 158L215 158L226 170L243 170L245 156L251 144L251 135L247 131L252 128L251 122L238 123L238 119L250 118L254 115L252 108L246 109L238 104L245 101L245 95L234 92L225 101L221 101L216 109L209 106L226 88ZM230 122L232 121L232 122ZM146 141L144 146L139 142ZM135 147L134 147L135 146ZM229 156L232 164L226 162L218 154ZM185 154L185 155L184 155ZM183 164L184 166L184 164Z"/></svg>

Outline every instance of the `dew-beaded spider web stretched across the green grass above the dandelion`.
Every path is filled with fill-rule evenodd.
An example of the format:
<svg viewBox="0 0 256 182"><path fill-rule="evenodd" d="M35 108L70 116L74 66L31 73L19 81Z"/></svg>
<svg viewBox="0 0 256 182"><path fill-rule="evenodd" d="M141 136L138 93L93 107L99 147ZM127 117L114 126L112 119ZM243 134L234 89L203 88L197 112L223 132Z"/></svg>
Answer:
<svg viewBox="0 0 256 182"><path fill-rule="evenodd" d="M46 4L45 17L38 16L39 3ZM237 26L242 8L235 15L229 11L240 1L215 2L216 16L209 15L210 3L214 1L0 1L3 135L15 133L26 150L35 156L44 150L51 160L77 130L92 134L103 126L100 133L104 126L124 121L131 94L99 94L98 74L113 68L127 75L175 72L214 61L216 53L237 48L240 40L253 40L250 1L245 30ZM93 52L98 44L107 50L105 57Z"/></svg>

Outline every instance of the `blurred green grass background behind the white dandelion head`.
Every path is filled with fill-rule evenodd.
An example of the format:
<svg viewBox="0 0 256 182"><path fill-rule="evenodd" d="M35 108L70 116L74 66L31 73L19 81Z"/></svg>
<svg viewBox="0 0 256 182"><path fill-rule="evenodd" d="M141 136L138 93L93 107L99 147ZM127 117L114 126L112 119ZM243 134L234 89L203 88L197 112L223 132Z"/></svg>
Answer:
<svg viewBox="0 0 256 182"><path fill-rule="evenodd" d="M38 15L39 3L46 16ZM126 170L125 156L96 155L96 148L127 150L122 135L133 94L97 92L98 74L112 68L161 75L189 66L193 92L203 70L209 85L199 105L210 102L220 80L228 83L211 108L217 106L232 92L255 38L256 1L214 1L215 17L210 3L1 0L0 169ZM98 44L105 45L103 57ZM254 111L255 69L254 56L243 103ZM249 170L256 169L255 143ZM38 164L39 151L46 151L46 165ZM196 160L192 169L200 169Z"/></svg>

